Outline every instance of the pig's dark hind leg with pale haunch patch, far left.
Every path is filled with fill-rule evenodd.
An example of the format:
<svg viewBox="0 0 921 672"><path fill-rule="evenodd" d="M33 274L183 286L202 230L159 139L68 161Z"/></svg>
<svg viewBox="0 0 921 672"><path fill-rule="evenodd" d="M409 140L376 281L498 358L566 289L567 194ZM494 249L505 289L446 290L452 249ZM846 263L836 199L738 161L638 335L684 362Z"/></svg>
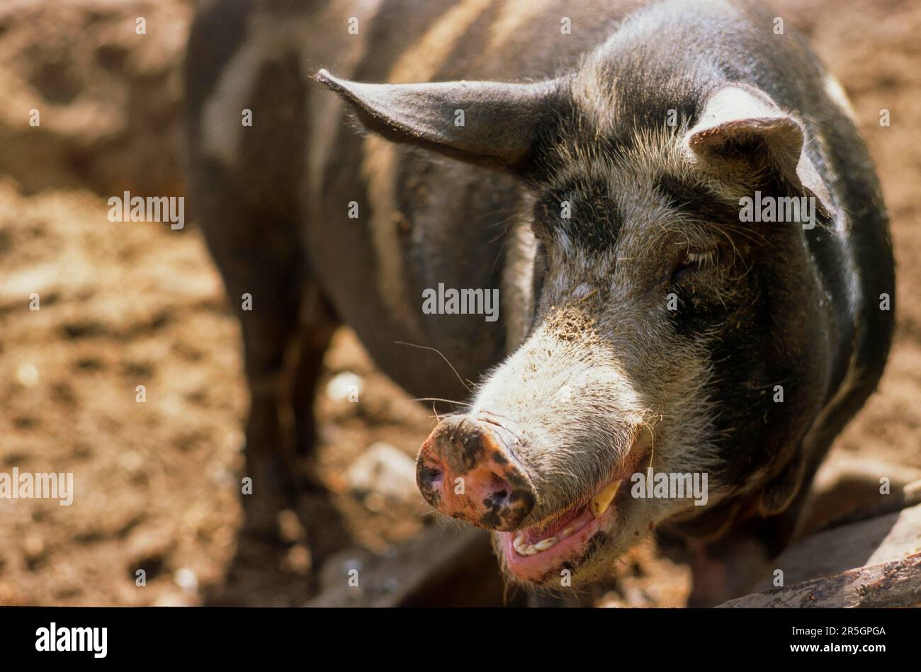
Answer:
<svg viewBox="0 0 921 672"><path fill-rule="evenodd" d="M297 53L250 39L254 3L213 5L196 16L189 42L192 207L242 328L251 395L245 525L274 540L277 511L297 491L289 404L311 286L299 236L309 80Z"/></svg>

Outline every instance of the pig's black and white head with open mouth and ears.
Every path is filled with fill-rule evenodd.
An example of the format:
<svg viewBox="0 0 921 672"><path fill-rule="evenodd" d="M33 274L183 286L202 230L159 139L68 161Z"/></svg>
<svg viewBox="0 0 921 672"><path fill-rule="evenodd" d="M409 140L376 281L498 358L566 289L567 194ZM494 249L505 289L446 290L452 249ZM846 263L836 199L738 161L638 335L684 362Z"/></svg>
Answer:
<svg viewBox="0 0 921 672"><path fill-rule="evenodd" d="M802 226L741 222L740 198L814 197L823 226L794 115L751 87L591 60L530 84L319 78L371 130L529 194L530 334L417 470L429 504L495 531L509 580L576 587L659 524L788 506L827 393L827 318ZM705 505L636 496L650 467L705 475Z"/></svg>

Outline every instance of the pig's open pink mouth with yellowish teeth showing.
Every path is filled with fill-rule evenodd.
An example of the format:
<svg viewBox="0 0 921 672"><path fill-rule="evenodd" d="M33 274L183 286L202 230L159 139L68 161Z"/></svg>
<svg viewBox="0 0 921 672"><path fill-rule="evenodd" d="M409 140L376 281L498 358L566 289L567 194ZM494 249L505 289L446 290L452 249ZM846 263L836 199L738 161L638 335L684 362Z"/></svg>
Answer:
<svg viewBox="0 0 921 672"><path fill-rule="evenodd" d="M637 444L643 442L638 441ZM496 532L507 571L527 583L542 584L564 569L575 573L599 539L612 533L620 511L630 498L630 476L647 456L634 446L627 463L589 498L554 516L549 522L514 532Z"/></svg>

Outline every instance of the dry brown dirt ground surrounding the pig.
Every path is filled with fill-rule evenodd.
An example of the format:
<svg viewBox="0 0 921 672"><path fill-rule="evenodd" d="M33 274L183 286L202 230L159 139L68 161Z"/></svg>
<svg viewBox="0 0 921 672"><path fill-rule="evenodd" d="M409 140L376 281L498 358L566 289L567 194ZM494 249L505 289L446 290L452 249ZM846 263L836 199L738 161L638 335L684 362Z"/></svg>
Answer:
<svg viewBox="0 0 921 672"><path fill-rule="evenodd" d="M284 552L238 548L238 324L193 223L113 224L105 202L123 188L182 192L179 66L193 3L5 5L0 471L72 471L76 493L69 507L0 500L0 605L301 604L322 585L324 561L336 569L430 524L418 502L349 489L346 470L368 446L412 458L433 421L342 330L319 400L318 468L332 498L306 504L306 530L281 517ZM776 5L853 99L899 264L887 373L834 451L921 467L921 5ZM134 33L138 16L147 40ZM40 127L29 126L32 109ZM340 399L356 381L341 374L360 382L357 403ZM687 590L687 570L647 544L620 564L603 603L678 606Z"/></svg>

